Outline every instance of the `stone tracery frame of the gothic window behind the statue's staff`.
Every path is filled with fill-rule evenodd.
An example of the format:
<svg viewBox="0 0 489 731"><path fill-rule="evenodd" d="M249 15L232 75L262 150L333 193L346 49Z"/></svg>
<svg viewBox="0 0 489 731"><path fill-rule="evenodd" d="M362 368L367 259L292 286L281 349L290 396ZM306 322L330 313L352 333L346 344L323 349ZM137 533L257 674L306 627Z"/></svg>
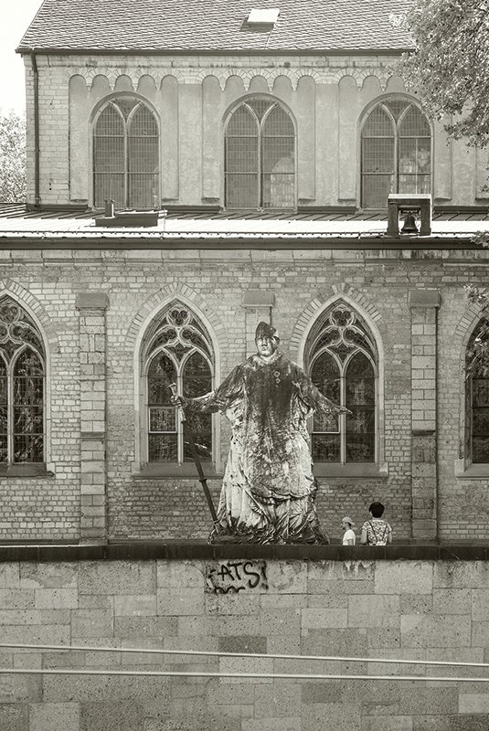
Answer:
<svg viewBox="0 0 489 731"><path fill-rule="evenodd" d="M186 333L192 331L195 335L194 342L191 342ZM173 331L173 334L172 334ZM186 351L186 352L184 352ZM177 355L179 354L179 355ZM204 390L203 393L193 394L194 396L203 396L207 391L212 390L215 384L215 356L212 346L212 340L207 333L207 328L204 323L200 320L196 313L188 307L185 303L174 301L165 307L163 311L158 313L152 319L149 324L146 333L144 334L144 342L142 347L141 355L141 374L142 374L142 390L144 398L143 408L143 420L142 420L142 462L143 466L151 466L155 469L172 468L176 465L185 467L190 466L190 471L195 472L188 445L185 446L184 440L184 429L181 423L179 410L177 408L170 407L169 404L162 405L160 407L150 403L150 389L149 389L149 370L154 362L154 358L159 355L165 355L169 357L172 364L175 366L175 386L179 394L186 395L188 389L184 383L186 365L188 365L193 355L200 355L206 362L209 369L209 387ZM173 429L168 431L154 429L154 423L158 419L157 409L165 409L167 418L172 423ZM165 416L162 414L162 418ZM187 419L192 423L192 417L188 416ZM214 464L216 461L216 434L214 429L214 419L211 415L208 415L208 437L210 439L210 450L208 456L201 453L200 457L202 461L207 463L207 470L209 463ZM176 453L175 459L157 461L151 459L151 434L171 434L175 435L176 440ZM196 436L197 450L198 450L198 439ZM179 472L180 473L180 472ZM185 476L182 473L182 476Z"/></svg>

